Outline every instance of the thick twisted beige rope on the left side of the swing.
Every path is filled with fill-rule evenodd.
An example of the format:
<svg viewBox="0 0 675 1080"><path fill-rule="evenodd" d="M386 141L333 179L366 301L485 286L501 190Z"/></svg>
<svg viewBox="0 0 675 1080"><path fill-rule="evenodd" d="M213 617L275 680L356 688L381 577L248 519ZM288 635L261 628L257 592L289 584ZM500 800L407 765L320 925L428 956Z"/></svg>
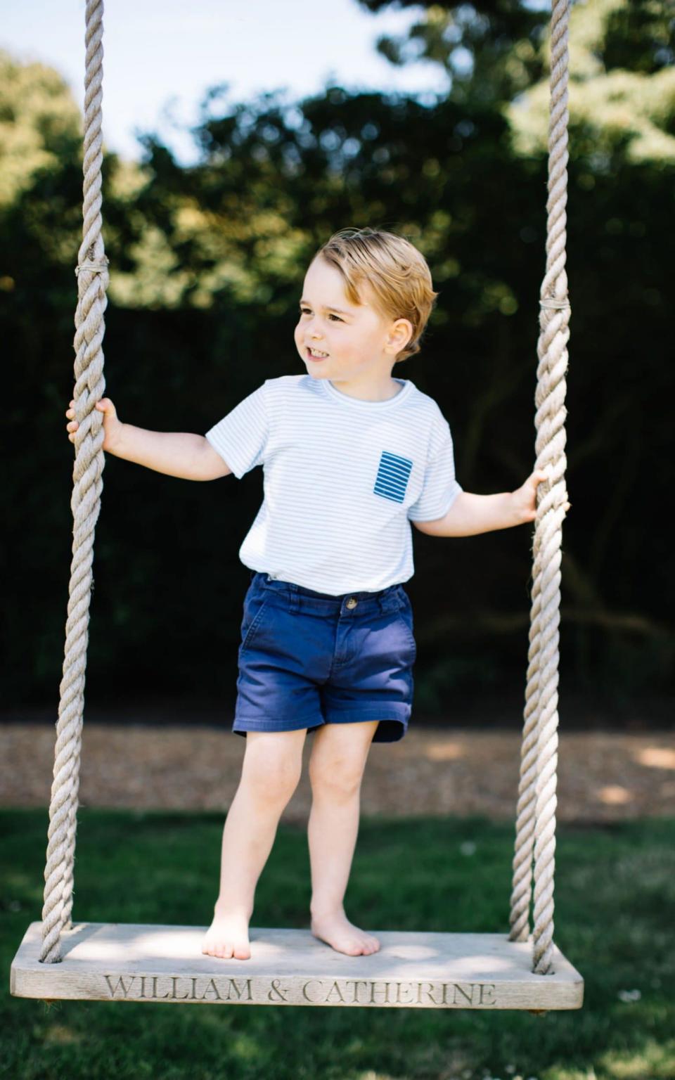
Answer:
<svg viewBox="0 0 675 1080"><path fill-rule="evenodd" d="M86 3L84 77L84 205L82 244L78 253L78 305L75 314L75 435L72 562L66 645L56 724L54 780L50 802L49 843L44 867L42 947L40 960L60 960L60 935L71 927L72 875L77 829L80 750L84 710L84 672L89 609L94 588L94 530L100 510L103 415L95 408L105 391L103 375L104 312L107 307L108 260L100 235L100 166L103 99L103 0Z"/></svg>

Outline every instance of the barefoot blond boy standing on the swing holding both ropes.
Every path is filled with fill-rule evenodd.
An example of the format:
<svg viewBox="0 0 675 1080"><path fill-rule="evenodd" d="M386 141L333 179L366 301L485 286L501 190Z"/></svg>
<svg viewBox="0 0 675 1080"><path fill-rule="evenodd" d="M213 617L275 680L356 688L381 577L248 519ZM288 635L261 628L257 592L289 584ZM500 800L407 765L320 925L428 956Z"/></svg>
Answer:
<svg viewBox="0 0 675 1080"><path fill-rule="evenodd" d="M515 491L463 491L437 404L392 376L419 352L436 296L407 240L342 229L305 278L295 343L306 374L267 379L205 436L134 428L110 399L96 404L104 450L127 461L200 481L265 470L265 499L240 549L252 580L233 730L246 748L202 944L211 956L251 956L255 887L299 781L308 731L311 931L340 953L377 951L377 937L348 920L342 901L370 743L402 739L410 715L410 523L449 537L536 517L544 472ZM77 427L67 426L71 442Z"/></svg>

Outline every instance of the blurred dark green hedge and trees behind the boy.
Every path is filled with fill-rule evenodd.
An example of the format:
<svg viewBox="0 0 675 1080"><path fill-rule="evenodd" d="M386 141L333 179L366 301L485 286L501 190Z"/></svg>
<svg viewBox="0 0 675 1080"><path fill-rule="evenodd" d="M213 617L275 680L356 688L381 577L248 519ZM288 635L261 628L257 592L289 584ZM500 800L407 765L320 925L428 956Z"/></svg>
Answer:
<svg viewBox="0 0 675 1080"><path fill-rule="evenodd" d="M336 229L368 225L408 237L440 291L421 355L394 374L438 402L463 487L510 490L531 471L550 12L518 0L416 6L405 39L377 48L392 64L443 65L451 89L432 105L339 85L233 102L224 82L201 103L197 164L152 133L139 162L106 152L106 394L122 420L203 433L266 378L301 374L293 327L307 266ZM571 11L561 707L565 693L599 693L617 719L673 690L661 496L674 480L674 31L667 0L578 0ZM104 134L105 107L104 89ZM60 77L0 53L5 707L54 714L81 143ZM238 550L261 496L261 470L198 484L106 459L87 702L162 697L231 711L248 584ZM460 700L489 692L513 694L517 715L531 530L415 530L415 550L416 708L451 718Z"/></svg>

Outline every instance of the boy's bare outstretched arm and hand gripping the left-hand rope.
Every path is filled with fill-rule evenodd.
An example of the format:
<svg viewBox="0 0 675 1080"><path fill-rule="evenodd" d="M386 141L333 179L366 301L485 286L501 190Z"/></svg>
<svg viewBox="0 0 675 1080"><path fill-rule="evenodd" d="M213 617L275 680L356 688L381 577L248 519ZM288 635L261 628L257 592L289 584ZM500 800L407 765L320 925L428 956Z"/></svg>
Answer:
<svg viewBox="0 0 675 1080"><path fill-rule="evenodd" d="M232 472L203 435L148 431L122 423L109 397L96 402L96 408L104 414L103 448L106 454L181 480L217 480ZM66 416L71 418L67 430L70 432L68 438L73 443L78 429L75 401L70 402Z"/></svg>

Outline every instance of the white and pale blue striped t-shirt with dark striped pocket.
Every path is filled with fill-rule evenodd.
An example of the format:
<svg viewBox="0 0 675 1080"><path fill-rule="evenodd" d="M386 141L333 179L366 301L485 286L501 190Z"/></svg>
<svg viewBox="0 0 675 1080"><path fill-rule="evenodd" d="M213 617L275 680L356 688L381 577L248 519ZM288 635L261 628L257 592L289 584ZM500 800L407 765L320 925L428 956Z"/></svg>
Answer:
<svg viewBox="0 0 675 1080"><path fill-rule="evenodd" d="M244 566L330 596L413 577L410 521L443 517L462 488L436 402L395 381L367 402L310 375L266 379L206 432L238 480L264 467Z"/></svg>

